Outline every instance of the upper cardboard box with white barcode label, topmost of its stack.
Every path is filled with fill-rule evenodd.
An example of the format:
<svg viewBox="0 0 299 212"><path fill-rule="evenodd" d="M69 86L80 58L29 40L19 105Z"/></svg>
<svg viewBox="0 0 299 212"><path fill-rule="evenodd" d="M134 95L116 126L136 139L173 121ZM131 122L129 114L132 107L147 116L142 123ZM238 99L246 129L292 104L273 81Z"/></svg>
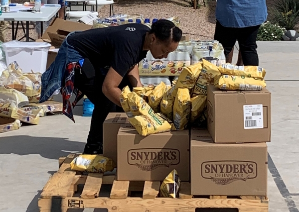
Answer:
<svg viewBox="0 0 299 212"><path fill-rule="evenodd" d="M208 130L215 143L269 142L271 93L207 90Z"/></svg>

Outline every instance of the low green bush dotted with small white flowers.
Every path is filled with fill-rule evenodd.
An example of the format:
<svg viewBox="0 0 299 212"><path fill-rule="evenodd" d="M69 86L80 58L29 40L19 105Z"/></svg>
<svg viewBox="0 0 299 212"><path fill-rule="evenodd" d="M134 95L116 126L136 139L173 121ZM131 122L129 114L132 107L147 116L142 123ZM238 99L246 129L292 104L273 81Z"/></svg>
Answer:
<svg viewBox="0 0 299 212"><path fill-rule="evenodd" d="M272 24L269 21L262 23L257 40L263 41L274 41L274 40L282 40L283 35L286 32L286 28L280 27L277 24Z"/></svg>

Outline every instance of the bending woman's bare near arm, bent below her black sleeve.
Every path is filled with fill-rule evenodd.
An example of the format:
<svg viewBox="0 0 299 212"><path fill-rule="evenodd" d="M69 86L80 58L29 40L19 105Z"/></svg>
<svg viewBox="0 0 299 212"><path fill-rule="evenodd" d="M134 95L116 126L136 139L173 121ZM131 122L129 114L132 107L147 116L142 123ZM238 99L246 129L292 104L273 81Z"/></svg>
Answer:
<svg viewBox="0 0 299 212"><path fill-rule="evenodd" d="M118 88L122 82L123 77L117 73L112 67L110 67L104 83L103 83L103 94L117 106L122 106L120 102L121 90Z"/></svg>

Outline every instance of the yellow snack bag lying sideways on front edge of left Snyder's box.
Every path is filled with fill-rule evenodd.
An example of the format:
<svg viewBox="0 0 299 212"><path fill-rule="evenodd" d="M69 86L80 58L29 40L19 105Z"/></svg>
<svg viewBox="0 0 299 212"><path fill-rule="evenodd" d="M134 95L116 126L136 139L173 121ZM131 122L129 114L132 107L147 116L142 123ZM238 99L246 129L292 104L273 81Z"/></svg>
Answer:
<svg viewBox="0 0 299 212"><path fill-rule="evenodd" d="M136 128L137 132L143 136L175 130L170 120L161 113L154 113L151 108L148 110L147 115L136 115L129 118L129 122Z"/></svg>

